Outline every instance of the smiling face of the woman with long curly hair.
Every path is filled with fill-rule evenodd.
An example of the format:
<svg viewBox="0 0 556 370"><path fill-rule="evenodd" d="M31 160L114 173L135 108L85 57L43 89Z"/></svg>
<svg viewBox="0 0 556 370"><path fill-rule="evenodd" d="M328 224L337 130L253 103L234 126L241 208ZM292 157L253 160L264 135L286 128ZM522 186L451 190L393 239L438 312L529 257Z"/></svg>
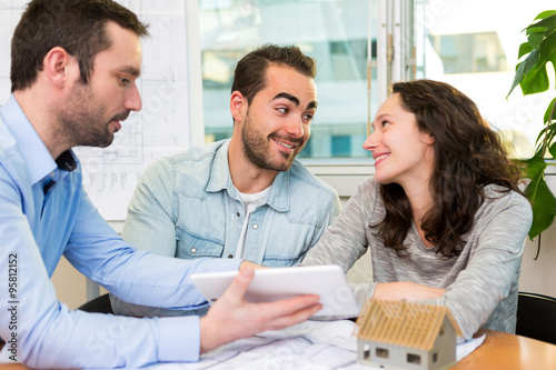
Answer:
<svg viewBox="0 0 556 370"><path fill-rule="evenodd" d="M399 93L390 96L378 109L374 132L364 149L375 158L375 180L403 188L428 183L433 173L434 138L420 132L415 114L401 106Z"/></svg>

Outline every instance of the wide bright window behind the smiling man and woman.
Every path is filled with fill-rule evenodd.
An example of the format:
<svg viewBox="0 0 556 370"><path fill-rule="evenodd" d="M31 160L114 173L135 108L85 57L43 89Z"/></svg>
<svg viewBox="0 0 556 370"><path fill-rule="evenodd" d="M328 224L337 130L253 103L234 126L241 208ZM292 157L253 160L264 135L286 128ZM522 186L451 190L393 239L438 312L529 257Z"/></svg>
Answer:
<svg viewBox="0 0 556 370"><path fill-rule="evenodd" d="M553 2L520 7L517 0L200 0L206 141L231 136L228 101L236 62L262 43L294 43L319 66L319 108L311 139L299 156L306 163L331 158L371 162L361 148L368 116L386 98L389 82L414 77L448 82L469 96L508 148L515 148L514 156L527 158L552 97L520 97L517 91L506 100L506 94L518 46L525 41L520 30L540 11L554 8ZM405 8L393 6L399 3ZM500 9L504 17L493 17ZM388 32L379 27L384 20L390 24ZM388 33L395 40L391 49L385 48ZM369 66L375 66L370 114L369 49ZM386 50L397 59L391 71L385 69Z"/></svg>

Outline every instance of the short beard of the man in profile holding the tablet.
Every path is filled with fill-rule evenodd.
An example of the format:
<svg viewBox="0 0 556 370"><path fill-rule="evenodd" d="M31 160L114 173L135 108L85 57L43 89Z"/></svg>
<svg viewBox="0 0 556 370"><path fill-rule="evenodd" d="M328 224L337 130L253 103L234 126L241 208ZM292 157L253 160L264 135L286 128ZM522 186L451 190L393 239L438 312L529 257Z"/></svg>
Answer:
<svg viewBox="0 0 556 370"><path fill-rule="evenodd" d="M66 107L59 109L57 138L64 138L71 147L106 148L112 143L116 131L110 130L111 121L126 120L130 111L107 118L105 104L96 98L89 84L76 83Z"/></svg>

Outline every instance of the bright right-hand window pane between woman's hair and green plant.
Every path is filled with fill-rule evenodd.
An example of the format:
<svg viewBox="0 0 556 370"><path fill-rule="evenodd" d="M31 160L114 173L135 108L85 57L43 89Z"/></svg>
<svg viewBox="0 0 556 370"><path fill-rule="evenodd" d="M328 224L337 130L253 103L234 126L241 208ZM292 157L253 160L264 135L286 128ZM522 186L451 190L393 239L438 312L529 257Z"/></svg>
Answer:
<svg viewBox="0 0 556 370"><path fill-rule="evenodd" d="M517 0L415 0L415 4L417 77L445 81L461 90L502 133L514 157L533 156L554 90L523 97L516 88L507 100L506 94L514 80L519 44L526 41L520 31L539 12L554 9L554 1L529 1L527 7ZM504 17L493 16L500 9Z"/></svg>

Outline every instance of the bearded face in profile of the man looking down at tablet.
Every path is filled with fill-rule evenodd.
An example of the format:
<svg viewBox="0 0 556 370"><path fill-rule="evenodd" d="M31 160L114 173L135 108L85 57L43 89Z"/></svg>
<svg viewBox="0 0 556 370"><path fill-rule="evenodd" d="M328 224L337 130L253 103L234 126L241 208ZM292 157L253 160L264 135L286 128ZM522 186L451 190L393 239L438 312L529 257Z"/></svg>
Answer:
<svg viewBox="0 0 556 370"><path fill-rule="evenodd" d="M136 86L142 57L139 37L113 22L107 23L107 34L112 46L95 58L89 83L76 80L67 109L59 110L60 131L71 146L108 147L120 121L141 109Z"/></svg>

